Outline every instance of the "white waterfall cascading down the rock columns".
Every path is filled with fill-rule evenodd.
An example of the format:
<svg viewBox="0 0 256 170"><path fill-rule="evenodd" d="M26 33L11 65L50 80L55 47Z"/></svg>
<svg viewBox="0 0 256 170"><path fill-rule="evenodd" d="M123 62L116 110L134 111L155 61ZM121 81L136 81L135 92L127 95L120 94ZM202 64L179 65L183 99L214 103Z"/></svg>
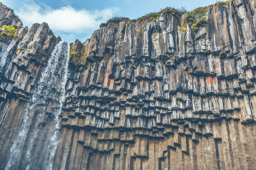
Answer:
<svg viewBox="0 0 256 170"><path fill-rule="evenodd" d="M59 115L65 101L68 60L69 44L61 41L49 58L30 104L24 108L6 169L52 169L59 144Z"/></svg>

